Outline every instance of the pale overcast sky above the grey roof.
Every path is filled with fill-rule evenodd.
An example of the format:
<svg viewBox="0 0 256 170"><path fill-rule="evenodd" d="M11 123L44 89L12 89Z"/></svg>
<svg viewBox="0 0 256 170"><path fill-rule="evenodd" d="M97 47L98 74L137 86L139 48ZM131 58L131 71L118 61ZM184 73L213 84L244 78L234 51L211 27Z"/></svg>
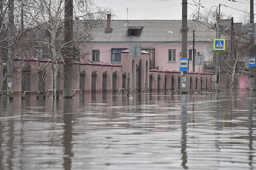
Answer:
<svg viewBox="0 0 256 170"><path fill-rule="evenodd" d="M98 3L99 6L113 10L114 14L116 14L113 19L126 20L127 8L128 20L181 20L182 16L182 0L99 0ZM198 12L199 0L188 0L188 3L188 19L192 19L191 16ZM212 11L215 11L216 7L212 6L221 4L221 12L234 17L236 22L249 21L250 19L248 16L250 0L236 0L236 2L229 0L201 0L200 3L199 11L203 14L211 8ZM256 5L254 5L255 7Z"/></svg>

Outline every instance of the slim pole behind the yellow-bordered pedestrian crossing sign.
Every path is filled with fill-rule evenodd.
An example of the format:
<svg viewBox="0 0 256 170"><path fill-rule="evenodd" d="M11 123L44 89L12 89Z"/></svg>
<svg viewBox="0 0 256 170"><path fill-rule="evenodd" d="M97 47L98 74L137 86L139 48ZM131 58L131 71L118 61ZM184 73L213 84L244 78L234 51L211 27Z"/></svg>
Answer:
<svg viewBox="0 0 256 170"><path fill-rule="evenodd" d="M218 17L217 17L217 32L216 32L216 39L220 39L221 38L221 31L220 31L220 15L221 15L221 4L219 4L218 7ZM221 88L221 74L220 74L220 51L218 50L215 53L215 75L218 76L218 81L215 82L215 88L217 88L217 91L220 92L220 88Z"/></svg>

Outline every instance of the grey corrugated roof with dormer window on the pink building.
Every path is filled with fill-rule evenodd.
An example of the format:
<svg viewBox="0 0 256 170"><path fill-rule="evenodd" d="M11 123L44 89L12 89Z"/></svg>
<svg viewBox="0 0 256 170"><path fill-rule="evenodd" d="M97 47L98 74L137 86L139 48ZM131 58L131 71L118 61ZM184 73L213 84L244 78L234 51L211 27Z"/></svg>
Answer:
<svg viewBox="0 0 256 170"><path fill-rule="evenodd" d="M181 42L181 20L111 20L111 32L106 33L107 20L93 32L92 42ZM140 36L128 36L128 29L141 28ZM216 37L216 31L204 24L188 20L188 41L207 42ZM173 34L169 34L172 31Z"/></svg>

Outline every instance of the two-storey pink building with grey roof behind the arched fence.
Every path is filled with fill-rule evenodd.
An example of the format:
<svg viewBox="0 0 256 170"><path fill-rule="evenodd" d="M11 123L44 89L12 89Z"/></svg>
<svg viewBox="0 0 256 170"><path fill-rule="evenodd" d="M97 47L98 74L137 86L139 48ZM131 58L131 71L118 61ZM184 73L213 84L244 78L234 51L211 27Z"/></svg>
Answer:
<svg viewBox="0 0 256 170"><path fill-rule="evenodd" d="M121 52L129 48L129 44L141 44L142 50L150 53L149 68L160 70L179 70L181 58L181 20L111 20L108 15L106 25L93 33L91 42L92 55L87 59L103 64L121 64ZM108 30L107 30L108 26ZM188 22L189 71L192 71L194 25ZM173 34L169 34L168 31ZM212 59L212 42L215 30L204 26L196 27L195 56L204 55L205 60ZM202 70L201 66L201 69ZM198 70L198 66L195 66Z"/></svg>

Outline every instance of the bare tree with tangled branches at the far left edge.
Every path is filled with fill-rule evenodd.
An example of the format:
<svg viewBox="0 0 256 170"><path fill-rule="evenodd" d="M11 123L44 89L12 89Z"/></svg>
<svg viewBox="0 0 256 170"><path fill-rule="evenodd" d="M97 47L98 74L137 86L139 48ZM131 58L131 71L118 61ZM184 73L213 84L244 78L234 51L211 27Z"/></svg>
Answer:
<svg viewBox="0 0 256 170"><path fill-rule="evenodd" d="M20 24L22 1L0 0L0 90L12 91L13 88L13 59L20 49L15 45L24 31Z"/></svg>

